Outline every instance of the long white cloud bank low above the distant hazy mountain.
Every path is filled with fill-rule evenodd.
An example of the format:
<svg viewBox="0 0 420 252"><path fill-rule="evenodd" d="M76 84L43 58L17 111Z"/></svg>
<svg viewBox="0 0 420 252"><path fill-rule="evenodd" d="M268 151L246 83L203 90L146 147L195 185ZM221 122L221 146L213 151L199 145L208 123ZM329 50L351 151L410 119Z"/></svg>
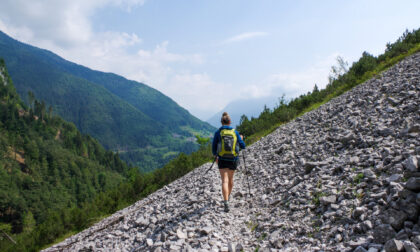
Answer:
<svg viewBox="0 0 420 252"><path fill-rule="evenodd" d="M307 91L312 91L315 84L323 88L328 83L331 66L336 64L338 54L319 59L313 65L295 72L278 72L267 75L255 83L216 82L206 73L173 74L167 80L170 85L166 91L183 107L207 119L214 113L226 107L234 100L272 99L272 104L278 103L278 98L286 95L286 99L294 98Z"/></svg>

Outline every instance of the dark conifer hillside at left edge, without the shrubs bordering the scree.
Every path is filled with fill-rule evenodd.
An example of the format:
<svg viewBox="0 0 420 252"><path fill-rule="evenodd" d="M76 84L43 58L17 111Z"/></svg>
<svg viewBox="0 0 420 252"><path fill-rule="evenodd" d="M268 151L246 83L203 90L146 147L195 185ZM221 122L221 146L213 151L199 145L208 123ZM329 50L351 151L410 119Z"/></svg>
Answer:
<svg viewBox="0 0 420 252"><path fill-rule="evenodd" d="M54 116L43 101L32 98L27 107L0 61L0 231L31 233L59 210L115 188L127 172L117 154Z"/></svg>

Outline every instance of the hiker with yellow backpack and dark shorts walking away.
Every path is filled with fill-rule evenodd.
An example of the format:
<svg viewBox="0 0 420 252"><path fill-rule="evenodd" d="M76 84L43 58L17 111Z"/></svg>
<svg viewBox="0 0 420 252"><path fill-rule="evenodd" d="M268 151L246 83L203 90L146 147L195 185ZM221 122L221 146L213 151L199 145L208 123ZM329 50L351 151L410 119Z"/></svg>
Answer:
<svg viewBox="0 0 420 252"><path fill-rule="evenodd" d="M221 123L222 127L214 133L212 151L222 178L225 212L229 212L228 200L233 188L233 174L239 164L239 148L245 149L245 143L243 136L230 126L231 120L227 112L223 113Z"/></svg>

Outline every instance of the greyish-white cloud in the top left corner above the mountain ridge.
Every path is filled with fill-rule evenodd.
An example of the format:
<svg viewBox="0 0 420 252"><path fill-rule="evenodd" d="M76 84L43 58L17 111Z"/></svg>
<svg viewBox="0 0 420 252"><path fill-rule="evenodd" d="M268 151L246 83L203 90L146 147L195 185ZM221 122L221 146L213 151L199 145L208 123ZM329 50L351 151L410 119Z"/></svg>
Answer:
<svg viewBox="0 0 420 252"><path fill-rule="evenodd" d="M96 35L89 18L99 8L116 6L127 11L145 0L2 0L0 23L3 31L25 42L71 48L91 41Z"/></svg>

